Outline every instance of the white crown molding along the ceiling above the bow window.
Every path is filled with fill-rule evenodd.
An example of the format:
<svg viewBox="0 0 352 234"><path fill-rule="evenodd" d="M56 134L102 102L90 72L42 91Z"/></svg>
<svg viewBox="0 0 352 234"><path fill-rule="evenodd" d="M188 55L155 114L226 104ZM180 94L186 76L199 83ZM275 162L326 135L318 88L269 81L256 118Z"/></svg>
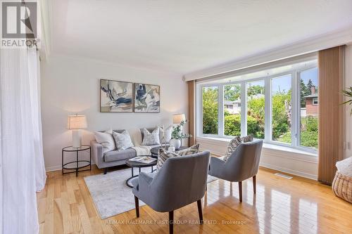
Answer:
<svg viewBox="0 0 352 234"><path fill-rule="evenodd" d="M188 82L194 79L201 79L227 72L233 72L247 67L263 65L265 63L275 62L284 58L301 56L306 53L312 53L326 48L332 48L334 46L341 46L351 43L352 27L348 27L344 28L343 30L329 32L328 34L322 34L317 37L298 41L294 44L280 46L264 53L253 54L246 58L234 60L230 63L217 65L215 67L209 67L204 70L190 72L188 74L184 74L184 79L186 82Z"/></svg>

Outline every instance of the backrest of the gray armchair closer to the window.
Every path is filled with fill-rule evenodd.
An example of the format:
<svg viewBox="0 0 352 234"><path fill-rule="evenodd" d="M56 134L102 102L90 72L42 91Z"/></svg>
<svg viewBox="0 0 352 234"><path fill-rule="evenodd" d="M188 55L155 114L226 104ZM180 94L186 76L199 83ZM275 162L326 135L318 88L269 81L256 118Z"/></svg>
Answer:
<svg viewBox="0 0 352 234"><path fill-rule="evenodd" d="M225 163L225 174L232 181L244 181L258 173L262 140L241 143Z"/></svg>

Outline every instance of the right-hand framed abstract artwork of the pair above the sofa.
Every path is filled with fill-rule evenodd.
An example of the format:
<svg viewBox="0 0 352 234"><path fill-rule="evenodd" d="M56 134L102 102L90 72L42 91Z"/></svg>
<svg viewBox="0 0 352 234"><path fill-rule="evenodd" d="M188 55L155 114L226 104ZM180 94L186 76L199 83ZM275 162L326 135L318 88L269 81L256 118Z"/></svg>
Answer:
<svg viewBox="0 0 352 234"><path fill-rule="evenodd" d="M160 112L160 86L134 83L134 112Z"/></svg>

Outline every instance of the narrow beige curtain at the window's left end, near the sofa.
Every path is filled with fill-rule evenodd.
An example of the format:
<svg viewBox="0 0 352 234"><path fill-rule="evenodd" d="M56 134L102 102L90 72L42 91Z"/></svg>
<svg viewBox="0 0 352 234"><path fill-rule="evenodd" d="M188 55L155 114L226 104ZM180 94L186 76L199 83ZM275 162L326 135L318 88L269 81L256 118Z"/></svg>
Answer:
<svg viewBox="0 0 352 234"><path fill-rule="evenodd" d="M196 143L196 81L187 82L188 86L188 124L189 124L189 145Z"/></svg>

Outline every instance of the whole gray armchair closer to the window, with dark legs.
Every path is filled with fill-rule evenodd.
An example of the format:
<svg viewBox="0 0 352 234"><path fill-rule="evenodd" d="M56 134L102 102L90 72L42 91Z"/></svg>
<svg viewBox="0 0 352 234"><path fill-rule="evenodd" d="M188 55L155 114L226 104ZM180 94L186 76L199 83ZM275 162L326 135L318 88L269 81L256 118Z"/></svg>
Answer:
<svg viewBox="0 0 352 234"><path fill-rule="evenodd" d="M242 202L242 181L247 178L253 178L253 193L256 193L256 174L262 146L262 140L241 143L227 161L218 157L210 158L211 176L239 183L239 202Z"/></svg>

